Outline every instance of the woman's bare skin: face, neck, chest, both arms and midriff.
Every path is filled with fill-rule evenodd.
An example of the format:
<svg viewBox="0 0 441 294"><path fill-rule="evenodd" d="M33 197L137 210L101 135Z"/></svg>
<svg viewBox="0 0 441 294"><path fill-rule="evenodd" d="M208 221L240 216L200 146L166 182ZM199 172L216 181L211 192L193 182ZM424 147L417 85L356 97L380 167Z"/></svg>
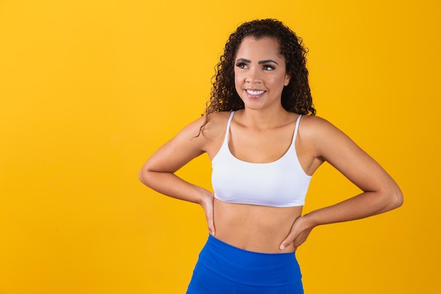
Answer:
<svg viewBox="0 0 441 294"><path fill-rule="evenodd" d="M233 116L230 151L242 161L275 161L290 147L298 116L285 111L280 102L282 89L290 82L285 59L274 39L246 37L235 61L235 85L244 109ZM213 114L198 137L194 136L204 118L190 123L160 147L139 172L139 179L150 188L200 204L209 232L219 240L255 252L292 252L316 226L373 216L402 204L402 192L386 171L347 135L318 116L302 116L299 124L295 147L304 172L312 175L328 161L360 188L359 195L303 216L302 207L230 204L215 199L212 192L178 178L175 172L205 152L210 159L216 156L229 115Z"/></svg>

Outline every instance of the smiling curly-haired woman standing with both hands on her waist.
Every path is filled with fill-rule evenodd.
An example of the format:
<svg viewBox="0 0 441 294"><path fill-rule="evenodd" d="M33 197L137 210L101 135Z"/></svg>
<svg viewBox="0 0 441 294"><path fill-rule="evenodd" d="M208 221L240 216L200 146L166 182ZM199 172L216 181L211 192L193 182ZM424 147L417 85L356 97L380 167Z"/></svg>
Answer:
<svg viewBox="0 0 441 294"><path fill-rule="evenodd" d="M278 20L230 35L205 116L144 164L154 190L200 204L209 240L188 294L303 293L295 250L311 230L395 209L395 181L344 133L314 116L302 39ZM206 152L214 193L175 171ZM309 180L324 161L363 192L302 216Z"/></svg>

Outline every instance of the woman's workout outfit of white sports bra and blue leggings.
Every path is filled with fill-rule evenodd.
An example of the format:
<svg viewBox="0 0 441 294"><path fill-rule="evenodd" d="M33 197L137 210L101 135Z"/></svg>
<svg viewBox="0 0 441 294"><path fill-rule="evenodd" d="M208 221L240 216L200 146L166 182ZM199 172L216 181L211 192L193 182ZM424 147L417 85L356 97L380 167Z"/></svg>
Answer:
<svg viewBox="0 0 441 294"><path fill-rule="evenodd" d="M268 207L304 205L311 176L299 164L295 139L297 118L290 148L280 159L255 164L234 157L228 147L230 114L225 138L213 158L214 197L237 204ZM187 294L303 294L302 274L295 252L251 252L209 235L199 254Z"/></svg>

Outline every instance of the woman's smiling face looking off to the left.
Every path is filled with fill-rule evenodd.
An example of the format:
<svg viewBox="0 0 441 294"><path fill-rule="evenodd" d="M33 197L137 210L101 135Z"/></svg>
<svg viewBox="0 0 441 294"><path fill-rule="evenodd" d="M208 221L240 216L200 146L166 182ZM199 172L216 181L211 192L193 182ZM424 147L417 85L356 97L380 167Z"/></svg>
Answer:
<svg viewBox="0 0 441 294"><path fill-rule="evenodd" d="M245 108L282 107L283 87L290 83L275 39L245 37L235 59L235 87Z"/></svg>

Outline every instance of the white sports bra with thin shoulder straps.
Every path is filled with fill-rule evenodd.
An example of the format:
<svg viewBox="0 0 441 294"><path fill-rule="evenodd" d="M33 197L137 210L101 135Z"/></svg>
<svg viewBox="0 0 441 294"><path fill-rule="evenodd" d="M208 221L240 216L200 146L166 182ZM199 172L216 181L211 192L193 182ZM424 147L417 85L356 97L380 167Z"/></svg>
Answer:
<svg viewBox="0 0 441 294"><path fill-rule="evenodd" d="M214 197L237 204L268 207L303 206L311 176L307 175L295 149L301 115L297 118L290 148L280 159L256 164L234 157L228 147L228 133L234 111L228 119L225 138L218 154L211 161L211 183Z"/></svg>

